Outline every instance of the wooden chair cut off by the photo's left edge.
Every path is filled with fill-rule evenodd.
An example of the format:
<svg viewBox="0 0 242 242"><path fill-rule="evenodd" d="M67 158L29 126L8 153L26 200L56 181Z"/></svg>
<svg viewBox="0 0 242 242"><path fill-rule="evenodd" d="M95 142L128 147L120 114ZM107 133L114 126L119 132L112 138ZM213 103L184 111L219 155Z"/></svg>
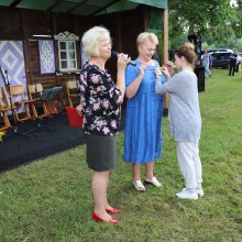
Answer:
<svg viewBox="0 0 242 242"><path fill-rule="evenodd" d="M0 131L7 130L11 128L8 111L11 110L11 106L7 99L7 92L4 87L0 87L0 117L2 118L2 125L0 127Z"/></svg>

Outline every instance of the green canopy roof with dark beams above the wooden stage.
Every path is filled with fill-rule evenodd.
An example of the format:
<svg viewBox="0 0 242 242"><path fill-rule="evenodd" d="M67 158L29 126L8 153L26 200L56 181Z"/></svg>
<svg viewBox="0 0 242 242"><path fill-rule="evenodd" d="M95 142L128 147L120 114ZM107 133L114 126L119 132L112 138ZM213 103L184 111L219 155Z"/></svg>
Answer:
<svg viewBox="0 0 242 242"><path fill-rule="evenodd" d="M167 9L167 0L1 0L0 6L78 15L100 15L135 9L139 4Z"/></svg>

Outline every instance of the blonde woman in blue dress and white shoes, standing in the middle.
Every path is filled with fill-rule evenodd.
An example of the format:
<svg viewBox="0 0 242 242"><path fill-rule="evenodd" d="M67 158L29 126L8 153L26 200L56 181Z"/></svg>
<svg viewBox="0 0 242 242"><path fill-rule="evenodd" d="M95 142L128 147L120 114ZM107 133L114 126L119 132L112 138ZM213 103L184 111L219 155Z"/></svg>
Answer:
<svg viewBox="0 0 242 242"><path fill-rule="evenodd" d="M141 33L136 40L139 56L136 66L125 70L125 96L128 98L124 134L124 162L132 164L133 185L144 191L141 182L141 164L145 164L144 182L161 187L154 176L154 160L162 153L163 96L155 94L156 73L160 65L152 59L158 44L153 33ZM162 81L165 81L164 77Z"/></svg>

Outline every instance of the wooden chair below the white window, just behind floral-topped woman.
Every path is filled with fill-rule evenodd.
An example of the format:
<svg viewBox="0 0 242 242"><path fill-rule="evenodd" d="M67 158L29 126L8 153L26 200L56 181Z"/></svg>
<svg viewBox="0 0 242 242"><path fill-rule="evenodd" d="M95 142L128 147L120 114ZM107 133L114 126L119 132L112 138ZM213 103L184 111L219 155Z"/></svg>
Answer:
<svg viewBox="0 0 242 242"><path fill-rule="evenodd" d="M79 105L79 85L77 80L68 80L65 86L67 102L69 107Z"/></svg>

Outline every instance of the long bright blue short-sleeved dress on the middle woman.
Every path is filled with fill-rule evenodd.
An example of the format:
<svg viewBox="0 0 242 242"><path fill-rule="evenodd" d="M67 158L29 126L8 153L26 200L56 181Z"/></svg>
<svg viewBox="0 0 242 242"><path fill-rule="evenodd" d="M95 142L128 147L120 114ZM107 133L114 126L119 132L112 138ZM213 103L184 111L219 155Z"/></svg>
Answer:
<svg viewBox="0 0 242 242"><path fill-rule="evenodd" d="M139 75L141 62L129 65L125 70L128 87ZM154 162L162 155L163 96L155 94L155 66L144 70L144 77L135 96L127 102L123 161L132 164ZM162 76L162 82L165 77Z"/></svg>

